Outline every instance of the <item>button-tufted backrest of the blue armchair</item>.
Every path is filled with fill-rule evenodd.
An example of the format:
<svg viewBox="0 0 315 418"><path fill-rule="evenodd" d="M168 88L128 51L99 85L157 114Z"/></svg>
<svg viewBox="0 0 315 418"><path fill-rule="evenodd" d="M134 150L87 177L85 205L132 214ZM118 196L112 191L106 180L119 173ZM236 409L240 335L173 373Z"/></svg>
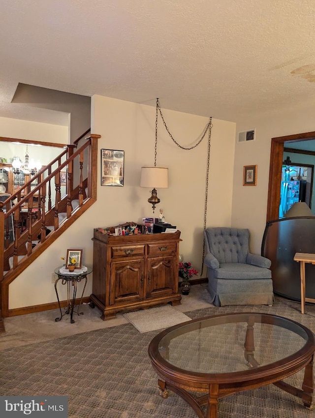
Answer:
<svg viewBox="0 0 315 418"><path fill-rule="evenodd" d="M250 231L237 228L207 228L210 252L219 263L246 263Z"/></svg>

